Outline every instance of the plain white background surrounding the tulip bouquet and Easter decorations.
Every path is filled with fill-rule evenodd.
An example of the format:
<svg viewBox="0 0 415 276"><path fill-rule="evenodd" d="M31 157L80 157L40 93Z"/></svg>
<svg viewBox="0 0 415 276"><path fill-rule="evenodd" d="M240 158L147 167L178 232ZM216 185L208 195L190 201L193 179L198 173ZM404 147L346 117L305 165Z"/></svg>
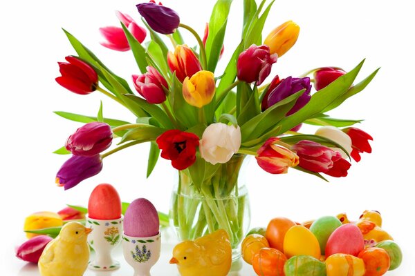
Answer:
<svg viewBox="0 0 415 276"><path fill-rule="evenodd" d="M123 201L146 197L167 212L174 170L158 162L145 178L147 145L135 146L104 159L104 169L71 190L55 186L55 174L68 156L51 152L64 145L81 124L53 114L54 110L95 116L100 100L104 117L133 121L134 117L99 92L75 95L57 85L57 61L75 51L65 28L88 46L111 70L128 81L138 68L131 52L114 52L100 46L98 28L118 26L115 10L140 22L137 1L8 1L1 7L1 275L32 275L14 257L24 242L24 218L40 210L57 211L65 204L86 205L91 190L100 183L113 184ZM181 14L181 21L203 35L214 1L173 1L163 4ZM242 1L234 0L225 55L216 75L240 40ZM320 66L351 70L367 58L358 80L382 67L373 83L360 95L329 113L344 119L365 119L358 126L374 141L373 153L353 161L349 176L317 177L290 170L268 175L252 160L247 172L252 206L251 226L266 226L273 217L296 221L347 212L357 219L363 210L379 210L385 230L404 251L401 268L388 275L415 275L414 262L414 141L409 134L414 117L413 65L415 26L409 1L277 1L264 28L264 37L280 23L292 19L301 27L296 45L279 59L273 74L299 75ZM141 23L141 22L140 22ZM142 24L141 24L142 25ZM190 46L194 39L185 39ZM314 131L313 128L306 129ZM116 143L114 143L116 144ZM6 264L6 266L4 266ZM158 264L163 266L164 264ZM159 269L160 270L160 269ZM33 274L35 275L35 274ZM245 275L245 274L243 274Z"/></svg>

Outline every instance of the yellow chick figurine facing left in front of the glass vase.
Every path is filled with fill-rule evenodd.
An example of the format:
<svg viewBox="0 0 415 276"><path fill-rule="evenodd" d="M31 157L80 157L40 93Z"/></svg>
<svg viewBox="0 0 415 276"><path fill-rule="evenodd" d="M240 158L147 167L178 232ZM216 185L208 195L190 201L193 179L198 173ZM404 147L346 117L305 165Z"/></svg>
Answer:
<svg viewBox="0 0 415 276"><path fill-rule="evenodd" d="M228 275L232 264L228 233L219 229L194 242L181 242L174 247L170 264L177 264L181 276Z"/></svg>

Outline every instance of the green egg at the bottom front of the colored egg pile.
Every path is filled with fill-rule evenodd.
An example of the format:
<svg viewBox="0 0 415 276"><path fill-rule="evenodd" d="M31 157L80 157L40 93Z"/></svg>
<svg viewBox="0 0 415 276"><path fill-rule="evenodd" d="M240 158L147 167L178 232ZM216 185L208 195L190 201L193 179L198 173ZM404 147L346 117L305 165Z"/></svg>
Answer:
<svg viewBox="0 0 415 276"><path fill-rule="evenodd" d="M294 256L284 264L285 276L325 276L326 265L311 256Z"/></svg>

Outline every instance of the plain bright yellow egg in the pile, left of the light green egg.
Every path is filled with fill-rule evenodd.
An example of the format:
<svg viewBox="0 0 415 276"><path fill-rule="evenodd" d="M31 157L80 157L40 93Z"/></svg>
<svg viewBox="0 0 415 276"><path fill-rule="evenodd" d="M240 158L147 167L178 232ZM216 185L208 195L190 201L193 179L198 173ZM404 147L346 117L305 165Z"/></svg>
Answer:
<svg viewBox="0 0 415 276"><path fill-rule="evenodd" d="M310 230L297 225L291 227L284 237L284 254L288 258L297 255L309 255L320 259L320 245Z"/></svg>

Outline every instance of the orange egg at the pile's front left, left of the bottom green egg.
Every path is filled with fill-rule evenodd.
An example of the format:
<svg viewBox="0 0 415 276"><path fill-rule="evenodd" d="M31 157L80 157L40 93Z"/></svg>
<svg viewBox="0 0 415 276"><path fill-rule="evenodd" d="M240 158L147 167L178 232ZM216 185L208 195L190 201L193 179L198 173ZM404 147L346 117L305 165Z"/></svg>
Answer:
<svg viewBox="0 0 415 276"><path fill-rule="evenodd" d="M261 248L252 257L252 267L257 275L284 275L286 256L275 248Z"/></svg>

